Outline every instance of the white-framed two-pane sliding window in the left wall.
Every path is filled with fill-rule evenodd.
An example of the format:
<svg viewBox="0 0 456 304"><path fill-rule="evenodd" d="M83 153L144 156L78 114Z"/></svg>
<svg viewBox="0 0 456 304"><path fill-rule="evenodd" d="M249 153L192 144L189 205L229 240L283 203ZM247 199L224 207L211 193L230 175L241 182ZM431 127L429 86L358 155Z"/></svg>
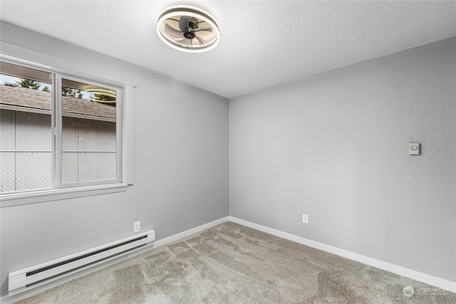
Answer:
<svg viewBox="0 0 456 304"><path fill-rule="evenodd" d="M126 186L125 85L33 63L0 64L2 206L4 199Z"/></svg>

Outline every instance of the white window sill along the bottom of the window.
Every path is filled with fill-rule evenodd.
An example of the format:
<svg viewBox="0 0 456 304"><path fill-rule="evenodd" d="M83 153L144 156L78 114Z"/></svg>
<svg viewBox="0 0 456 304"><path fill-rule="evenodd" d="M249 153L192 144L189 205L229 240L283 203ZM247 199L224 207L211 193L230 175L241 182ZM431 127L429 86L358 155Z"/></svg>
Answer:
<svg viewBox="0 0 456 304"><path fill-rule="evenodd" d="M0 208L125 191L127 191L127 184L110 184L72 189L46 189L26 193L1 194Z"/></svg>

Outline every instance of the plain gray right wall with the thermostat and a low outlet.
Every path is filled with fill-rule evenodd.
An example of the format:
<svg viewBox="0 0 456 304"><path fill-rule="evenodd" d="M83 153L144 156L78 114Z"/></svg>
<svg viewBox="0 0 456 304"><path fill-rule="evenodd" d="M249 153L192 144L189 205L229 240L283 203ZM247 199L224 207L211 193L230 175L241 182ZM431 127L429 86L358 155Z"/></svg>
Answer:
<svg viewBox="0 0 456 304"><path fill-rule="evenodd" d="M230 100L230 215L456 281L455 54L450 38Z"/></svg>

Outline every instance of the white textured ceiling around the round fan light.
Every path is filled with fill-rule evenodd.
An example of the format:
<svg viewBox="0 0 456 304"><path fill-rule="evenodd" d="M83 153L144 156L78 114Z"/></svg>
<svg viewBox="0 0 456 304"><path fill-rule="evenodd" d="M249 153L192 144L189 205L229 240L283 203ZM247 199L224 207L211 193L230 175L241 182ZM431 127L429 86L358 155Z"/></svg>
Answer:
<svg viewBox="0 0 456 304"><path fill-rule="evenodd" d="M217 19L216 48L158 38L177 4ZM455 1L1 1L0 19L227 98L456 36Z"/></svg>

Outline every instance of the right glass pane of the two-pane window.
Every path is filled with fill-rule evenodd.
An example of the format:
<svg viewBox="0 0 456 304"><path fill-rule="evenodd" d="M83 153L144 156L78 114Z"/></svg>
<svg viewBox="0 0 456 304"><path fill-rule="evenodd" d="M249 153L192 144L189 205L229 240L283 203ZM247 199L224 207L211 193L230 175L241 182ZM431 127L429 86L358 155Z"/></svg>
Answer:
<svg viewBox="0 0 456 304"><path fill-rule="evenodd" d="M62 95L62 182L116 179L116 91L63 79Z"/></svg>

